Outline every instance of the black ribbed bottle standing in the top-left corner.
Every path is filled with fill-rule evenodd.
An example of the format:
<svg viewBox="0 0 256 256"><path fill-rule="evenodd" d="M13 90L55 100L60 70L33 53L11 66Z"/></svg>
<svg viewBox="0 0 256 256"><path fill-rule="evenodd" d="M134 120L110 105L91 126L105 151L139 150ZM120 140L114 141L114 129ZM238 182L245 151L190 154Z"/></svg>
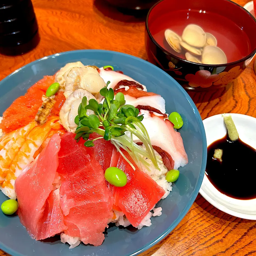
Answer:
<svg viewBox="0 0 256 256"><path fill-rule="evenodd" d="M0 53L22 54L39 42L31 0L0 1Z"/></svg>

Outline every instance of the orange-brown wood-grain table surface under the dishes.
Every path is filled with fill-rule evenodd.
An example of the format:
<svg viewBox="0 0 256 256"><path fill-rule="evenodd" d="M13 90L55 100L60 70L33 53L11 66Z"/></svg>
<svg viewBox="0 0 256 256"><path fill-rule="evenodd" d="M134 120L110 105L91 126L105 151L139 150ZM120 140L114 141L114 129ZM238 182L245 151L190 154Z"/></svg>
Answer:
<svg viewBox="0 0 256 256"><path fill-rule="evenodd" d="M27 54L0 55L0 80L44 56L69 50L105 49L147 59L145 16L124 15L103 0L32 0L41 41ZM247 0L236 0L245 5ZM202 119L223 112L256 117L253 62L235 82L219 91L192 93ZM6 255L0 250L0 255ZM236 218L210 205L200 194L179 225L141 256L256 255L256 221Z"/></svg>

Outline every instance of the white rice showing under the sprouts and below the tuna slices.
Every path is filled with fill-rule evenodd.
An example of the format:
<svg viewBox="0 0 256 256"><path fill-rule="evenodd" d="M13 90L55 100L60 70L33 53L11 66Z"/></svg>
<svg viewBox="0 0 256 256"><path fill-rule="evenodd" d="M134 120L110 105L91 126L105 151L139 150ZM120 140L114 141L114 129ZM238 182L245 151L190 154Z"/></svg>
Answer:
<svg viewBox="0 0 256 256"><path fill-rule="evenodd" d="M141 147L145 148L144 145ZM154 150L155 151L155 150ZM165 165L163 164L162 157L155 151L155 155L157 159L159 160L158 166L160 168L160 171L155 168L152 161L146 157L143 157L143 159L149 163L150 166L148 166L149 170L142 165L142 171L147 173L159 186L161 186L165 190L165 194L163 195L162 199L165 199L172 190L171 182L168 182L165 179L165 174L167 173L167 169ZM121 211L115 211L113 210L115 214L115 219L111 219L112 223L115 223L117 227L123 226L127 227L131 225L130 221L126 218L125 214ZM162 214L162 207L155 208L155 205L153 208L149 211L149 213L145 216L145 218L139 223L139 225L136 227L137 229L141 229L143 226L151 226L151 217L161 216ZM80 238L79 237L70 237L69 235L66 235L64 233L61 234L61 242L62 243L68 243L70 245L70 249L78 246L80 244Z"/></svg>

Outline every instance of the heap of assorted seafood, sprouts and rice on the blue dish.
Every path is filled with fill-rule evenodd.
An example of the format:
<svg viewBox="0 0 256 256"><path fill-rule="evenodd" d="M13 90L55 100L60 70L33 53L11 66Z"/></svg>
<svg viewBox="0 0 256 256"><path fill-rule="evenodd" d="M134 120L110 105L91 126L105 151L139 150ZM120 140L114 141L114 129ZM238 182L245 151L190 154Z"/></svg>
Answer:
<svg viewBox="0 0 256 256"><path fill-rule="evenodd" d="M101 245L109 225L150 226L188 163L172 111L112 66L67 63L0 118L3 213L18 207L33 239L60 234L70 248Z"/></svg>

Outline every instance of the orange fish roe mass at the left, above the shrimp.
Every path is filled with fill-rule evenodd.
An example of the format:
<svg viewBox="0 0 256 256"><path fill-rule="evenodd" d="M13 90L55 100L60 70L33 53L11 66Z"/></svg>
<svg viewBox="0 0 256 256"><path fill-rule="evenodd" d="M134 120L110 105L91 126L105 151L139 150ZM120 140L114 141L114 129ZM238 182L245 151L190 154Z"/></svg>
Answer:
<svg viewBox="0 0 256 256"><path fill-rule="evenodd" d="M54 76L45 76L31 86L24 96L15 99L3 113L3 119L0 124L3 133L16 130L35 119L35 115L42 105L42 96L52 83L54 83Z"/></svg>

